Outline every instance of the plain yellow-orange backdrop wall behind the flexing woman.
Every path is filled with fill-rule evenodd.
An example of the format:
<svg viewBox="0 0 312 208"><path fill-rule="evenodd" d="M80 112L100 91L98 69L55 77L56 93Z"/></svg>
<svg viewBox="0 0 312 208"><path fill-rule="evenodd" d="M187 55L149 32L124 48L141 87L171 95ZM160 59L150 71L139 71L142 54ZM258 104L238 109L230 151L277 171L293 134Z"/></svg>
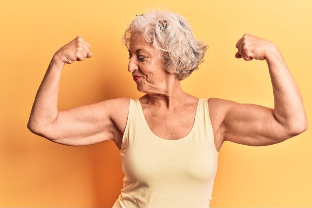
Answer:
<svg viewBox="0 0 312 208"><path fill-rule="evenodd" d="M312 125L312 1L1 1L0 206L113 205L124 177L113 141L65 146L31 133L27 121L53 54L78 35L94 56L65 65L59 110L142 96L120 40L135 14L154 7L181 14L210 46L181 82L185 92L274 108L266 61L235 58L236 42L251 33L280 48ZM311 207L311 146L311 127L270 146L223 143L210 206Z"/></svg>

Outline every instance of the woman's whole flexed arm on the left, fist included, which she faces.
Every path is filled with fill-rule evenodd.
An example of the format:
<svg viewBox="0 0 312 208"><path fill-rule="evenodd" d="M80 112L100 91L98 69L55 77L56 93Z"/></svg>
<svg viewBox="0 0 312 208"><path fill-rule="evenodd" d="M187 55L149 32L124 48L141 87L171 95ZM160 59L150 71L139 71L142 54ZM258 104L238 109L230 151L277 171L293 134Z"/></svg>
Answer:
<svg viewBox="0 0 312 208"><path fill-rule="evenodd" d="M80 36L54 54L37 91L27 128L53 142L83 146L122 137L111 118L114 106L126 98L58 111L57 99L63 66L92 57L90 45ZM124 103L124 102L122 102Z"/></svg>

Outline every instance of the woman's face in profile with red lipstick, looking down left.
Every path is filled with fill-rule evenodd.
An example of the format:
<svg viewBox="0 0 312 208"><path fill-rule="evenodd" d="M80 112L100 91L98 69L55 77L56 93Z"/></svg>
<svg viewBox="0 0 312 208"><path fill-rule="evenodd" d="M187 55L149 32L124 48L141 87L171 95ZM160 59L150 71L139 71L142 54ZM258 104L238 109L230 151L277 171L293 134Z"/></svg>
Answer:
<svg viewBox="0 0 312 208"><path fill-rule="evenodd" d="M168 89L170 79L174 75L164 70L164 63L160 59L160 51L151 44L143 41L141 35L131 35L129 43L128 71L134 78L137 89L147 94L162 94Z"/></svg>

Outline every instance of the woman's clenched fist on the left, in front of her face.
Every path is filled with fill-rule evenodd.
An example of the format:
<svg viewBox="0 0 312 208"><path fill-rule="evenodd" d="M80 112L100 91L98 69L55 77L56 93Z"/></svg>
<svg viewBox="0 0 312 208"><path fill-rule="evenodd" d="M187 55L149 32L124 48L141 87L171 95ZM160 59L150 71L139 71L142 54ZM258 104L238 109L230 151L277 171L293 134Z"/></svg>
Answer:
<svg viewBox="0 0 312 208"><path fill-rule="evenodd" d="M77 36L74 40L57 50L54 57L66 64L71 64L75 60L82 61L85 57L90 58L93 56L90 47L90 44L82 37Z"/></svg>

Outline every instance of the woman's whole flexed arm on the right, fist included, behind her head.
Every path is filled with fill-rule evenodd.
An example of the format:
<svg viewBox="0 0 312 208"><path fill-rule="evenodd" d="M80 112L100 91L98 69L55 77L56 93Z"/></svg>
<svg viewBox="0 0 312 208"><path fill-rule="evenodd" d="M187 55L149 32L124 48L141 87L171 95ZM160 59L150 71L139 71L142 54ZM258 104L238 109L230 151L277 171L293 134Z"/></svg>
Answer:
<svg viewBox="0 0 312 208"><path fill-rule="evenodd" d="M308 128L300 90L278 47L271 41L246 33L236 43L236 58L266 60L274 95L274 109L214 99L222 110L223 140L250 146L285 141Z"/></svg>

